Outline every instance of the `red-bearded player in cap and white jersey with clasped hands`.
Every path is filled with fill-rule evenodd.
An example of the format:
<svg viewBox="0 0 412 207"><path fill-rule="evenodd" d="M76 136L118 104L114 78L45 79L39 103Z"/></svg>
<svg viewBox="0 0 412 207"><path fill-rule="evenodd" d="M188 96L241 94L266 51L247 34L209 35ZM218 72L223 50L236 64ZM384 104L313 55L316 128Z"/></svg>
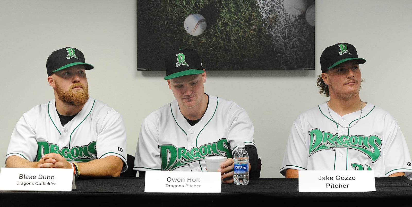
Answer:
<svg viewBox="0 0 412 207"><path fill-rule="evenodd" d="M17 122L6 167L72 168L76 178L117 177L127 169L122 116L89 98L83 53L73 47L47 58L54 99L24 113Z"/></svg>

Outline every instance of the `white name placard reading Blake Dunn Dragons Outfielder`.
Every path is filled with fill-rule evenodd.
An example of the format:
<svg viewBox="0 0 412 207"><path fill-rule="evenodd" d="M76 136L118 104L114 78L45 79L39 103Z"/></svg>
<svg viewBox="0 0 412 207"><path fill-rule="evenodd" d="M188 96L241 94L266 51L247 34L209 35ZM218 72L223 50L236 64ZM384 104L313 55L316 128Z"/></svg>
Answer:
<svg viewBox="0 0 412 207"><path fill-rule="evenodd" d="M71 191L76 189L73 169L2 167L0 190Z"/></svg>

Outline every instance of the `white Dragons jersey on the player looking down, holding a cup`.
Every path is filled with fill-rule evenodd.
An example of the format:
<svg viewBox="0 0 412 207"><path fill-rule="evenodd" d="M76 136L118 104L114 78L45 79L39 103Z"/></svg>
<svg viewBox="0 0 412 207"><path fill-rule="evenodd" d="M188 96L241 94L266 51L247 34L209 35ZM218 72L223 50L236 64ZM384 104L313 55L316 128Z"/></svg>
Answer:
<svg viewBox="0 0 412 207"><path fill-rule="evenodd" d="M205 114L191 126L176 100L145 118L140 128L134 170L206 171L205 156L227 156L238 142L255 146L254 127L235 102L209 96Z"/></svg>

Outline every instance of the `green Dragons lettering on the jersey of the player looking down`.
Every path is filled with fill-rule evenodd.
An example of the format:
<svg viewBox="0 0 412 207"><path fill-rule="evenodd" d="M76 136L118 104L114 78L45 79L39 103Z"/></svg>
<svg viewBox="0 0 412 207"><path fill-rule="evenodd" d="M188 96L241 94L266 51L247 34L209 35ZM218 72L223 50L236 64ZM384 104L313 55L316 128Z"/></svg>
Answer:
<svg viewBox="0 0 412 207"><path fill-rule="evenodd" d="M162 171L172 171L178 167L189 166L189 163L204 160L205 156L227 156L232 158L232 151L227 139L193 147L188 150L185 147L176 147L173 144L159 145Z"/></svg>

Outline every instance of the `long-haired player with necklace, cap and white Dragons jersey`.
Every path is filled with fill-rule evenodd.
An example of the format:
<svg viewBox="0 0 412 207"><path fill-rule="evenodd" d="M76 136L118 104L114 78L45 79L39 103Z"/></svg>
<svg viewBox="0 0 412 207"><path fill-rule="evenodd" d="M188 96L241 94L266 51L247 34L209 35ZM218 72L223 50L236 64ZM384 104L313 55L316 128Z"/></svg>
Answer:
<svg viewBox="0 0 412 207"><path fill-rule="evenodd" d="M330 100L295 119L280 173L297 178L299 170L374 170L375 177L410 177L411 158L398 123L359 97L359 64L366 60L342 42L327 47L320 60L317 85Z"/></svg>

